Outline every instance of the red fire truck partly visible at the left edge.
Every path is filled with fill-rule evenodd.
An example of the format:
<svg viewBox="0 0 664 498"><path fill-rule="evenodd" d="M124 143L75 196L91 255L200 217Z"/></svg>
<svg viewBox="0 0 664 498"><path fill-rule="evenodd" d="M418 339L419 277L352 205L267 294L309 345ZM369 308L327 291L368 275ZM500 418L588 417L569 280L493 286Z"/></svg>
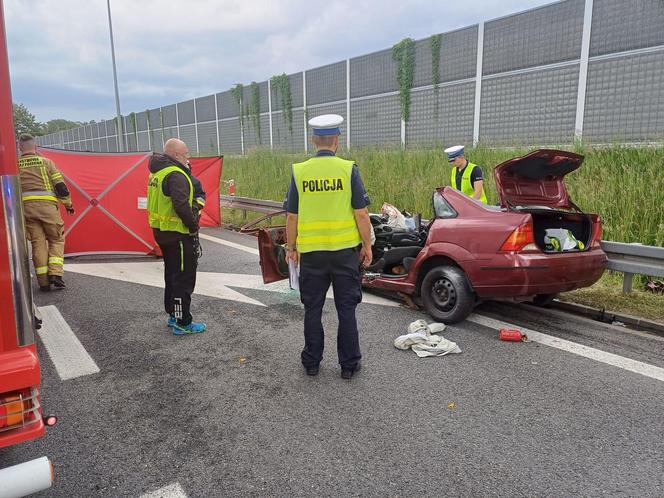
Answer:
<svg viewBox="0 0 664 498"><path fill-rule="evenodd" d="M44 417L39 395L41 371L23 224L12 99L0 0L0 466L6 446L44 435L55 417ZM0 469L0 496L25 496L51 486L48 458Z"/></svg>

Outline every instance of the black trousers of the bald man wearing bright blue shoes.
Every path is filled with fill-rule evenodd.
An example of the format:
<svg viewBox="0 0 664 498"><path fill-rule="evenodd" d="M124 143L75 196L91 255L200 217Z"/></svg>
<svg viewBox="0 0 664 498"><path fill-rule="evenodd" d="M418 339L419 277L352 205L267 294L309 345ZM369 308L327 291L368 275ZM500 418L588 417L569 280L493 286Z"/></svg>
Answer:
<svg viewBox="0 0 664 498"><path fill-rule="evenodd" d="M183 235L179 242L159 244L159 247L164 254L164 308L166 313L177 318L179 325L189 325L192 320L189 307L198 266L194 238Z"/></svg>

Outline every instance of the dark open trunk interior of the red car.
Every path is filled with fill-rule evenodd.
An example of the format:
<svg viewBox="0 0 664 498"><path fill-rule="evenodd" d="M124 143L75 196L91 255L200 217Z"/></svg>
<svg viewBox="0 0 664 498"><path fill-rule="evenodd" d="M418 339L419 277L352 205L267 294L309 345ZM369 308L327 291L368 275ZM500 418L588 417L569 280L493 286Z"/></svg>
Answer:
<svg viewBox="0 0 664 498"><path fill-rule="evenodd" d="M560 252L547 249L545 237L549 229L569 230L576 240L583 243L583 248L590 246L593 223L590 215L584 213L572 213L553 209L520 209L520 212L529 212L533 218L533 231L535 244L544 252ZM579 250L578 248L573 250Z"/></svg>

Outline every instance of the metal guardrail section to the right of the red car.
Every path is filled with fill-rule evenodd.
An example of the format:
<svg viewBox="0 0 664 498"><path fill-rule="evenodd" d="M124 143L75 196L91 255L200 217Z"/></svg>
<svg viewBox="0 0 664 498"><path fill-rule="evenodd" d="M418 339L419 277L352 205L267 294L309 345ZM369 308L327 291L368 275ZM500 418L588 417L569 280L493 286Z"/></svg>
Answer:
<svg viewBox="0 0 664 498"><path fill-rule="evenodd" d="M609 270L622 272L623 293L632 291L634 275L664 277L664 247L644 246L625 242L601 241L601 246L609 263Z"/></svg>

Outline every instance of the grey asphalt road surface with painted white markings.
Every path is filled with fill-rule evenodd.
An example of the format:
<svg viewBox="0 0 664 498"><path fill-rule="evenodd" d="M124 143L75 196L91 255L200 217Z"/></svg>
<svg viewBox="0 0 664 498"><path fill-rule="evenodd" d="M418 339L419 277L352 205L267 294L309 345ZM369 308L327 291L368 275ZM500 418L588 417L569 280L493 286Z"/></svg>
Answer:
<svg viewBox="0 0 664 498"><path fill-rule="evenodd" d="M231 245L203 240L204 334L170 333L150 259L68 261L68 289L36 295L82 347L41 332L59 423L0 467L48 456L58 497L664 496L664 338L484 304L443 332L461 354L418 358L393 341L429 317L365 294L363 370L339 377L328 301L307 377L298 295L262 285L255 239L206 233ZM502 322L537 341L499 341Z"/></svg>

